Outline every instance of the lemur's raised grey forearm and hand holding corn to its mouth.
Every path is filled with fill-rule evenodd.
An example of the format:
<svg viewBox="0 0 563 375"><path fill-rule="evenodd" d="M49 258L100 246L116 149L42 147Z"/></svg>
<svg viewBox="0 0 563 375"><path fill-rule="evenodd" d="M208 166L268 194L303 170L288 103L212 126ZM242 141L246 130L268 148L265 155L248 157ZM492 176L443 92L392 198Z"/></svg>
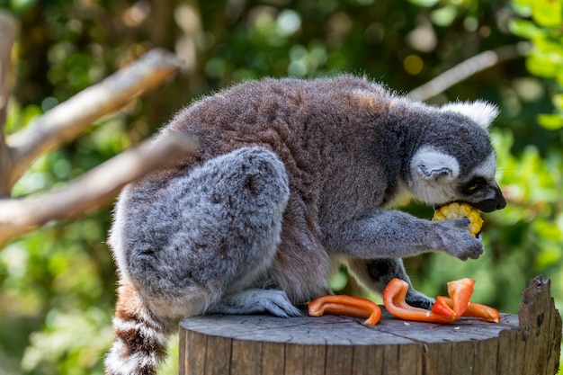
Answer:
<svg viewBox="0 0 563 375"><path fill-rule="evenodd" d="M444 251L461 260L483 253L467 229L468 219L429 221L397 210L379 210L351 219L332 232L331 250L363 259L401 258Z"/></svg>

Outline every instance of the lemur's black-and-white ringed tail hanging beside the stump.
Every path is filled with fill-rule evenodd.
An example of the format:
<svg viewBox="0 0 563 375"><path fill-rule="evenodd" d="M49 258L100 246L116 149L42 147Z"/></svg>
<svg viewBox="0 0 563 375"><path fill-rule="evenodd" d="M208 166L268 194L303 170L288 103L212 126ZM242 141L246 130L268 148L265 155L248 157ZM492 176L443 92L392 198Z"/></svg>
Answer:
<svg viewBox="0 0 563 375"><path fill-rule="evenodd" d="M113 317L115 341L105 359L106 375L154 375L166 354L166 329L129 283L122 282Z"/></svg>

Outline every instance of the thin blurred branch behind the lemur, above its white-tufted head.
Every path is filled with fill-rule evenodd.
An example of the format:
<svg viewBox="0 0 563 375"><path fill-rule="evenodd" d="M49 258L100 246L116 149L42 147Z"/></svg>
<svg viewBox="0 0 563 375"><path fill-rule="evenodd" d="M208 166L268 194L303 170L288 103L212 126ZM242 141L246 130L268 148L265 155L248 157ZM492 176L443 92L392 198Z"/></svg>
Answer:
<svg viewBox="0 0 563 375"><path fill-rule="evenodd" d="M514 45L500 47L495 50L487 50L478 55L468 58L460 64L446 70L440 76L436 76L424 85L421 85L407 94L416 101L426 101L437 94L441 94L452 85L481 72L489 67L503 63L514 58L522 58L530 50L530 44L520 42Z"/></svg>

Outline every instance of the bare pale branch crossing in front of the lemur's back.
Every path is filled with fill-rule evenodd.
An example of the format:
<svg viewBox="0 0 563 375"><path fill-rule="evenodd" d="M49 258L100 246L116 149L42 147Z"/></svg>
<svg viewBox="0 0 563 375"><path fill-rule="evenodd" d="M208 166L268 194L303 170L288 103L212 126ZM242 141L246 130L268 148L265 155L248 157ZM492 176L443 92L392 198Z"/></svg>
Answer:
<svg viewBox="0 0 563 375"><path fill-rule="evenodd" d="M0 249L13 237L51 220L75 219L107 205L121 188L175 157L193 154L193 138L170 134L146 140L83 174L65 187L28 198L0 200Z"/></svg>

